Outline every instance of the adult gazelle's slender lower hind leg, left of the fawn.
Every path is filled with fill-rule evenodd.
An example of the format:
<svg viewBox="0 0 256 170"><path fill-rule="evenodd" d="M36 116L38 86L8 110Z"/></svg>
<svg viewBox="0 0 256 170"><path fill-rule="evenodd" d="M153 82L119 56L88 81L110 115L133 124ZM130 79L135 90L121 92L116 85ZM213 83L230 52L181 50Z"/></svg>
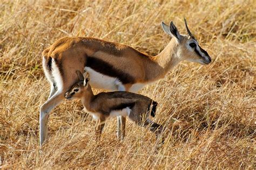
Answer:
<svg viewBox="0 0 256 170"><path fill-rule="evenodd" d="M64 99L64 93L57 92L40 107L40 146L43 145L47 137L47 123L50 111Z"/></svg>

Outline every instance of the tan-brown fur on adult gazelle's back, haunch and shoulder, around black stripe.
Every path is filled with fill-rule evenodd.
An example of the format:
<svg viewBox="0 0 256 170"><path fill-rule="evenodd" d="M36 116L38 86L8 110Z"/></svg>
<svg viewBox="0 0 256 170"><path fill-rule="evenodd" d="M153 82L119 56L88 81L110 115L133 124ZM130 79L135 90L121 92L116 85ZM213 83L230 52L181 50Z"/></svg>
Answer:
<svg viewBox="0 0 256 170"><path fill-rule="evenodd" d="M72 77L70 73L75 73L76 70L82 71L86 56L102 59L117 69L130 73L136 79L136 83L163 78L164 69L167 69L160 67L156 62L165 56L152 57L130 46L96 38L64 37L44 50L43 55L62 63L64 78Z"/></svg>

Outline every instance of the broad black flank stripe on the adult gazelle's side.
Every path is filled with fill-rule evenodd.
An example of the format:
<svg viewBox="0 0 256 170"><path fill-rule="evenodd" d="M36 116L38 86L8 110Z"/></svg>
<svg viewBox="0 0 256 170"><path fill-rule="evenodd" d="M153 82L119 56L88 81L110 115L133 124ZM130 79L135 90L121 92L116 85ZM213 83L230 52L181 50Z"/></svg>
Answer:
<svg viewBox="0 0 256 170"><path fill-rule="evenodd" d="M115 69L112 65L105 62L104 60L87 56L85 66L91 67L91 69L107 76L116 77L122 81L123 84L135 83L134 78L130 74Z"/></svg>

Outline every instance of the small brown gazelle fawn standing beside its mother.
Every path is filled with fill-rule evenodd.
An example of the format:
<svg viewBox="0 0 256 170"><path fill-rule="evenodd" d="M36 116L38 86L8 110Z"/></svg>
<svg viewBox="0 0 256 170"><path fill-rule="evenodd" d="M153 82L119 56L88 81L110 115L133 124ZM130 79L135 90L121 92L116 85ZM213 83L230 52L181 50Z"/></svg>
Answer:
<svg viewBox="0 0 256 170"><path fill-rule="evenodd" d="M109 118L123 116L129 117L134 123L147 127L156 134L158 138L163 130L163 126L154 123L149 119L156 114L156 101L152 99L130 92L102 92L94 95L89 84L89 73L77 71L79 78L78 83L74 84L71 89L65 93L67 99L80 99L89 114L97 120L96 135L102 133L105 121Z"/></svg>

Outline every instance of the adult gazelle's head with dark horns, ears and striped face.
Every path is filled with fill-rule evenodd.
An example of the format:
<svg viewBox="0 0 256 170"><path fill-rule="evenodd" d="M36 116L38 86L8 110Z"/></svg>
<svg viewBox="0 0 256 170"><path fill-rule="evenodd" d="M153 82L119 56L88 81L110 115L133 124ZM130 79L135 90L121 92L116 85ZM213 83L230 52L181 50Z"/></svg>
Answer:
<svg viewBox="0 0 256 170"><path fill-rule="evenodd" d="M181 60L188 60L190 62L196 62L200 64L211 63L211 57L208 53L202 49L197 39L192 35L190 29L188 29L186 19L184 18L187 35L180 35L178 29L171 21L170 25L166 25L164 22L161 23L163 30L176 39L177 43L177 55Z"/></svg>

